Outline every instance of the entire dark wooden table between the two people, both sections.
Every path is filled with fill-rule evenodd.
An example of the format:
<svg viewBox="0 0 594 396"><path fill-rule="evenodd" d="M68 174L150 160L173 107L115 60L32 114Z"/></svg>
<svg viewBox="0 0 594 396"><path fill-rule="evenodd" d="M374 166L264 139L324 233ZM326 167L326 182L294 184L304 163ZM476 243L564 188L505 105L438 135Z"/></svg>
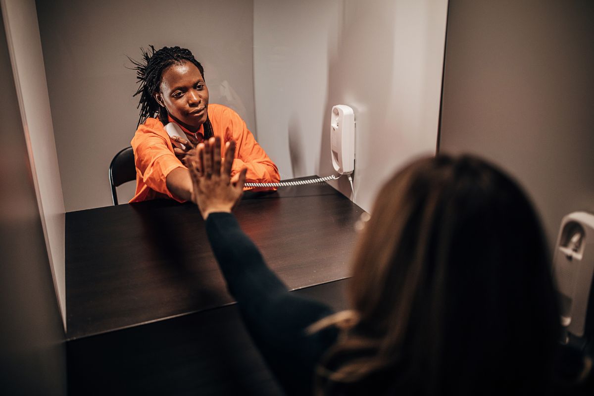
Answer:
<svg viewBox="0 0 594 396"><path fill-rule="evenodd" d="M245 194L235 215L289 289L343 309L362 212L320 183ZM67 213L66 287L70 394L280 394L194 205Z"/></svg>

